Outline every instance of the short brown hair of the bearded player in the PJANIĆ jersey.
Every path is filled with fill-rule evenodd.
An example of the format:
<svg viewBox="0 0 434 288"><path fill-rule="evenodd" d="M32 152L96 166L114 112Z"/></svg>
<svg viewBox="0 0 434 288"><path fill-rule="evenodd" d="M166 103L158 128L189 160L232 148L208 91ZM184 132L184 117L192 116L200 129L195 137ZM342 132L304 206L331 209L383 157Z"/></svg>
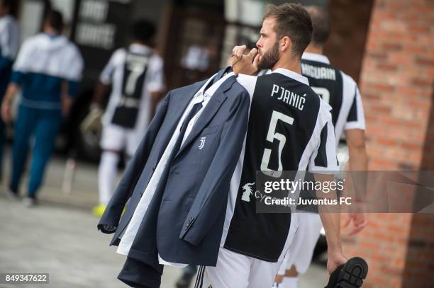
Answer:
<svg viewBox="0 0 434 288"><path fill-rule="evenodd" d="M288 36L292 42L292 52L301 57L306 47L311 42L312 21L306 9L301 4L269 5L264 18L274 18L276 25L274 31L277 39Z"/></svg>

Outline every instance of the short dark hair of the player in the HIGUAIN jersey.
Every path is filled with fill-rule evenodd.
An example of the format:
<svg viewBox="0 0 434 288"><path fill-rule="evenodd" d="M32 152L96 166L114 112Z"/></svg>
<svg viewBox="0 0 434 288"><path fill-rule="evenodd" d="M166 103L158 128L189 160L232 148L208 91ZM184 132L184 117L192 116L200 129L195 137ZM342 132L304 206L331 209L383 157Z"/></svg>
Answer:
<svg viewBox="0 0 434 288"><path fill-rule="evenodd" d="M312 20L312 43L313 45L323 46L330 35L330 18L328 18L328 13L318 6L307 6L306 10Z"/></svg>

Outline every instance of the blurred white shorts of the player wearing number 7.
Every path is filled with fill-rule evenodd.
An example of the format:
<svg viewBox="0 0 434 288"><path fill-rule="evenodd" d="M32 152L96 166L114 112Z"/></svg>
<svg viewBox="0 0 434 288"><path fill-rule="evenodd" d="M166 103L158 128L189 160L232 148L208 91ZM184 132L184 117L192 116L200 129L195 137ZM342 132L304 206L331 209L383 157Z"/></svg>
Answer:
<svg viewBox="0 0 434 288"><path fill-rule="evenodd" d="M146 127L141 129L126 129L119 125L105 124L101 134L101 149L123 151L128 156L133 156L140 140L145 136Z"/></svg>

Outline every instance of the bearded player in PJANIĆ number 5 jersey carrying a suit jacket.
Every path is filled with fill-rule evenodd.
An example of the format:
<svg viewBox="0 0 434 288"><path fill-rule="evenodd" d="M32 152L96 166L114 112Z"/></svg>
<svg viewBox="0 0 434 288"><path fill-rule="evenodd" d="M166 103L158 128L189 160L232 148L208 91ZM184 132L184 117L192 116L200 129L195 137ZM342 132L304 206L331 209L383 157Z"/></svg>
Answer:
<svg viewBox="0 0 434 288"><path fill-rule="evenodd" d="M259 54L245 46L233 50L238 83L251 97L249 124L230 183L221 248L216 267L200 267L196 286L271 287L299 226L297 214L256 212L256 171L309 171L333 180L338 169L330 105L301 75L301 54L311 41L312 24L299 4L270 6L265 14ZM252 64L253 62L253 64ZM264 76L249 76L257 69ZM329 271L346 259L340 247L339 214L321 214L329 244Z"/></svg>

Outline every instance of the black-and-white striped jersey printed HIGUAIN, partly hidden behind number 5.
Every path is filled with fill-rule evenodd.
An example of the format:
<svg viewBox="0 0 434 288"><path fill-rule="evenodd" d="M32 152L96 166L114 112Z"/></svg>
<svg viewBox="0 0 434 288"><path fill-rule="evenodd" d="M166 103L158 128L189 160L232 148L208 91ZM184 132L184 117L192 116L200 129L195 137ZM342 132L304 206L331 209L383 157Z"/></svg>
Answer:
<svg viewBox="0 0 434 288"><path fill-rule="evenodd" d="M313 91L332 108L336 144L344 130L365 129L362 98L350 76L332 67L324 55L308 52L301 57L301 73L308 78Z"/></svg>

